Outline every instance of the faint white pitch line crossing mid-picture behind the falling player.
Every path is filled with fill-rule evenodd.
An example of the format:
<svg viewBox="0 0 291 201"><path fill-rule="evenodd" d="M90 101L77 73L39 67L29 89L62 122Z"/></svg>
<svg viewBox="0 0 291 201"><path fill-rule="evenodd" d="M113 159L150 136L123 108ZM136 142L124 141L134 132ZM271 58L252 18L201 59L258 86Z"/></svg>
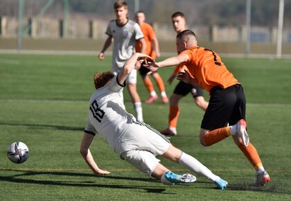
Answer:
<svg viewBox="0 0 291 201"><path fill-rule="evenodd" d="M89 100L0 99L0 103L52 103L52 104L60 103L60 104L76 104L76 103L89 103ZM180 103L180 105L188 105L188 103ZM291 103L247 103L247 107L291 107Z"/></svg>

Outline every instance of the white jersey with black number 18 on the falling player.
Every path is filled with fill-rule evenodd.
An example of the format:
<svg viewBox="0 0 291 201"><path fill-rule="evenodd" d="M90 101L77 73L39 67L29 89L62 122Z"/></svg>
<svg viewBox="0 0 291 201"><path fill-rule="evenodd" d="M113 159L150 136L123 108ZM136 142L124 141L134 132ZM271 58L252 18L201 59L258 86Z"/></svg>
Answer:
<svg viewBox="0 0 291 201"><path fill-rule="evenodd" d="M123 87L125 83L119 84L117 76L114 76L107 85L97 89L89 100L89 121L85 132L98 132L112 148L115 148L116 142L132 121L136 121L132 114L125 111Z"/></svg>

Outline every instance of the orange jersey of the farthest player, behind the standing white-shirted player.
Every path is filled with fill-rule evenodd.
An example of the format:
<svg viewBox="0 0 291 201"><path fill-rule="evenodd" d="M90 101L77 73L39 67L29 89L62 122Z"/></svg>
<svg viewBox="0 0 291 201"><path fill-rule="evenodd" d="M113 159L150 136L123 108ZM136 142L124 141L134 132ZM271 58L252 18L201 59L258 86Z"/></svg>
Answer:
<svg viewBox="0 0 291 201"><path fill-rule="evenodd" d="M154 60L156 59L156 53L152 49L152 40L155 39L156 35L154 32L154 29L150 24L143 22L143 24L140 25L141 31L143 32L145 42L146 42L146 50L145 54L150 55ZM136 41L135 44L135 50L136 52L141 52L141 42Z"/></svg>

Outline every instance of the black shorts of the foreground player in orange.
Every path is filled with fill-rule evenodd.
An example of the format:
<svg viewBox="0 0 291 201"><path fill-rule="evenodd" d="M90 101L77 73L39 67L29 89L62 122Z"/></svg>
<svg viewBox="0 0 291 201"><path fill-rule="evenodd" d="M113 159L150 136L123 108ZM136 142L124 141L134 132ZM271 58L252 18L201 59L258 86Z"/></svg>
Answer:
<svg viewBox="0 0 291 201"><path fill-rule="evenodd" d="M213 87L207 110L203 116L201 128L214 130L236 124L245 119L245 94L241 85L222 89Z"/></svg>

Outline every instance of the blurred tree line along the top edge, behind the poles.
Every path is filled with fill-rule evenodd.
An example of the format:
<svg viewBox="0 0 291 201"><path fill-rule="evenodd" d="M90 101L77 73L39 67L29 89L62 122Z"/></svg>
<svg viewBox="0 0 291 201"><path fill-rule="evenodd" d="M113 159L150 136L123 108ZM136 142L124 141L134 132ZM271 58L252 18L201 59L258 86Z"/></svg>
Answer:
<svg viewBox="0 0 291 201"><path fill-rule="evenodd" d="M35 17L48 0L25 0L26 17ZM85 15L90 19L114 19L115 0L69 0L70 16ZM127 0L134 15L134 0ZM148 22L170 23L170 15L181 11L191 25L238 26L245 24L246 0L139 0L139 10ZM0 16L17 17L18 0L1 0ZM63 17L64 1L55 0L47 16ZM252 26L277 26L279 0L252 0ZM284 27L291 26L291 0L285 0Z"/></svg>

